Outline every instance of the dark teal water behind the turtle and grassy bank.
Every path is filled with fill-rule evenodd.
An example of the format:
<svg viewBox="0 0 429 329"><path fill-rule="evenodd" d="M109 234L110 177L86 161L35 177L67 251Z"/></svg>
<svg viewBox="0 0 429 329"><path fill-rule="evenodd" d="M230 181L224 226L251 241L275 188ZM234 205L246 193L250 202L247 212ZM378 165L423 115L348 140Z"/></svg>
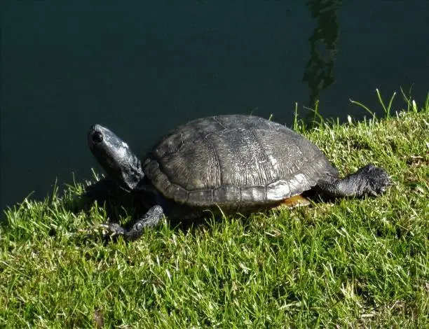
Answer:
<svg viewBox="0 0 429 329"><path fill-rule="evenodd" d="M420 104L429 89L429 1L10 2L1 209L90 177L92 123L146 149L200 116L292 125L294 102L320 99L323 116L362 118L349 98L378 111L376 87L414 85Z"/></svg>

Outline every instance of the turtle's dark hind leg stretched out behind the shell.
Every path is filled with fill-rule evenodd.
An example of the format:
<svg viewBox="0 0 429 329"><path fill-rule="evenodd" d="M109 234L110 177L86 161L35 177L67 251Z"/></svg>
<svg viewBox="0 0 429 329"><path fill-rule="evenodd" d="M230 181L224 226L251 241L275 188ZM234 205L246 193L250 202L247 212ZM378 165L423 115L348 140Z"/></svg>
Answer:
<svg viewBox="0 0 429 329"><path fill-rule="evenodd" d="M317 186L323 194L332 197L362 197L379 195L391 184L384 169L366 165L343 179L330 176L320 180Z"/></svg>

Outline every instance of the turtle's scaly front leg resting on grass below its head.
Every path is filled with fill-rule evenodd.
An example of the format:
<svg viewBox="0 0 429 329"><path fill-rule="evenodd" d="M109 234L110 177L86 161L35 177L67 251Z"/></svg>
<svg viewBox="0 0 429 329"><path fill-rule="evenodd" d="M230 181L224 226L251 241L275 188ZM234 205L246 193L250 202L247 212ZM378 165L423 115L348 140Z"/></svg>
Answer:
<svg viewBox="0 0 429 329"><path fill-rule="evenodd" d="M161 206L154 206L136 221L129 230L125 230L118 223L107 223L103 224L102 227L106 228L112 237L122 235L124 239L135 240L142 236L144 228L154 228L158 225L162 217L163 209Z"/></svg>

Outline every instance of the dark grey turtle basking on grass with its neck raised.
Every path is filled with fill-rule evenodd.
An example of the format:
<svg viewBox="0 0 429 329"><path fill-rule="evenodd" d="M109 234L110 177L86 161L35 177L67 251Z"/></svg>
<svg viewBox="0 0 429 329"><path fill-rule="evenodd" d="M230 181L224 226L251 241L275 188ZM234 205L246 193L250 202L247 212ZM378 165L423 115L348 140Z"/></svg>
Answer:
<svg viewBox="0 0 429 329"><path fill-rule="evenodd" d="M129 229L106 224L112 235L125 239L137 239L164 214L179 220L201 218L205 211L250 214L294 199L292 206L301 204L299 195L306 191L363 197L379 195L390 185L387 172L372 164L341 179L318 146L258 116L191 120L166 134L144 158L99 124L90 127L88 146L106 173L93 191L100 193L109 183L148 204Z"/></svg>

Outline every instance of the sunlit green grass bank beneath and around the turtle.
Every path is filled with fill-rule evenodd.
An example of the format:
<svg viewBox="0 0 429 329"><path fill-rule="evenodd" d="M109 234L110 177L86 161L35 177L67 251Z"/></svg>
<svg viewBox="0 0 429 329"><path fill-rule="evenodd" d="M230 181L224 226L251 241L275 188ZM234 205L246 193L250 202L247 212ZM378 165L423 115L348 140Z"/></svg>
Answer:
<svg viewBox="0 0 429 329"><path fill-rule="evenodd" d="M377 198L189 230L164 221L107 244L85 238L102 207L68 210L82 184L7 209L0 327L428 328L429 97L419 110L406 100L383 120L295 122L342 174L385 168L395 185Z"/></svg>

